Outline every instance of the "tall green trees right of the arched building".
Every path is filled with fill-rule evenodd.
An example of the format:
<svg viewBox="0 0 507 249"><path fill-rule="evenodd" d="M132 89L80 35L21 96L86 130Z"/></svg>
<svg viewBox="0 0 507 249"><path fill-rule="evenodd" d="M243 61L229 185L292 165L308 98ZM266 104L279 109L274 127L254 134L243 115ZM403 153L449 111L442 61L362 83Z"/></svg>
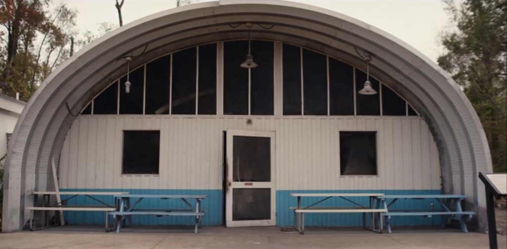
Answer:
<svg viewBox="0 0 507 249"><path fill-rule="evenodd" d="M481 119L493 170L507 171L507 0L446 0L457 29L442 34L439 65L462 87Z"/></svg>

